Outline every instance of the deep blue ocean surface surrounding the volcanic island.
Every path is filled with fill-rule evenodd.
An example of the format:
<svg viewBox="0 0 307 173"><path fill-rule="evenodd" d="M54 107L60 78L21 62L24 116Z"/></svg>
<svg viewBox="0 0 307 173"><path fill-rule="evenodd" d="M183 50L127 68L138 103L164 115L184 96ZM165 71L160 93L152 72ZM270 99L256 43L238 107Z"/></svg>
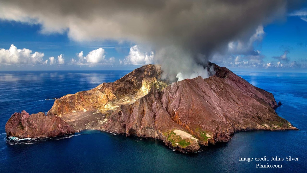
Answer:
<svg viewBox="0 0 307 173"><path fill-rule="evenodd" d="M129 71L0 72L0 172L307 172L307 74L236 72L272 92L276 109L300 131L236 132L228 143L201 152L172 151L161 141L87 130L61 138L7 138L14 112L47 112L55 98L113 82ZM239 157L284 161L239 161ZM299 158L286 161L286 157ZM256 168L282 165L282 168Z"/></svg>

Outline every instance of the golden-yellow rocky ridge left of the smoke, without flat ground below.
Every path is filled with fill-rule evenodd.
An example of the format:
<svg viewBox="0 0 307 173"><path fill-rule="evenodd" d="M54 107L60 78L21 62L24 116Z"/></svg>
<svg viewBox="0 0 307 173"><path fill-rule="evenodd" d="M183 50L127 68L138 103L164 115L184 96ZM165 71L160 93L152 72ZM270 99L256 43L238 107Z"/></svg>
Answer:
<svg viewBox="0 0 307 173"><path fill-rule="evenodd" d="M102 83L89 91L80 91L56 99L48 115L58 115L100 109L108 113L122 104L131 104L148 93L151 86L162 90L167 86L160 81L161 68L145 65L126 74L115 82Z"/></svg>

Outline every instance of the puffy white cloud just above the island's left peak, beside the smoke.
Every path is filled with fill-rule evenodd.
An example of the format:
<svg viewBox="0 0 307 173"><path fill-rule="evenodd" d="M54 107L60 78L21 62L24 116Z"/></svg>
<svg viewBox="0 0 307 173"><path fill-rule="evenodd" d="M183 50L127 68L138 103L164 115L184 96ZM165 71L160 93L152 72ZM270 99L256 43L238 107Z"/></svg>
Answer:
<svg viewBox="0 0 307 173"><path fill-rule="evenodd" d="M119 63L123 64L133 64L133 65L143 65L143 64L152 64L154 58L154 53L142 52L138 45L135 45L130 48L129 55L122 61L119 60Z"/></svg>

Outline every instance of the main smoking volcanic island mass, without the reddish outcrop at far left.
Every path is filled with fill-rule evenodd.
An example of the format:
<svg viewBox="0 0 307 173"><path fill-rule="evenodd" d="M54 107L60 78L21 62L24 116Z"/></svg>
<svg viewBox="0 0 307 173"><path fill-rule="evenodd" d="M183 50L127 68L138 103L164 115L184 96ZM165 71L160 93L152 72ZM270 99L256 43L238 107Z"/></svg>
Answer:
<svg viewBox="0 0 307 173"><path fill-rule="evenodd" d="M209 78L168 85L160 80L160 66L145 65L115 82L56 99L47 115L62 118L76 131L156 138L182 152L228 141L234 131L296 130L275 113L271 93L225 67L209 66L216 72Z"/></svg>

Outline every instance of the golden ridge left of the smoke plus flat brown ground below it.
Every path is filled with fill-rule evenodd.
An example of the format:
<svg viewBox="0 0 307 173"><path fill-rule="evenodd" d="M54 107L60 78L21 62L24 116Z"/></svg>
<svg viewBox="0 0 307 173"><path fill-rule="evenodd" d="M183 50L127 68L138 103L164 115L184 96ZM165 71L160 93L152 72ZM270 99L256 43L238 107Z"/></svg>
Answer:
<svg viewBox="0 0 307 173"><path fill-rule="evenodd" d="M168 83L159 80L161 68L145 65L119 80L102 83L89 91L81 91L56 99L48 116L59 116L76 130L99 129L121 105L129 105L146 95L154 86L159 91Z"/></svg>

